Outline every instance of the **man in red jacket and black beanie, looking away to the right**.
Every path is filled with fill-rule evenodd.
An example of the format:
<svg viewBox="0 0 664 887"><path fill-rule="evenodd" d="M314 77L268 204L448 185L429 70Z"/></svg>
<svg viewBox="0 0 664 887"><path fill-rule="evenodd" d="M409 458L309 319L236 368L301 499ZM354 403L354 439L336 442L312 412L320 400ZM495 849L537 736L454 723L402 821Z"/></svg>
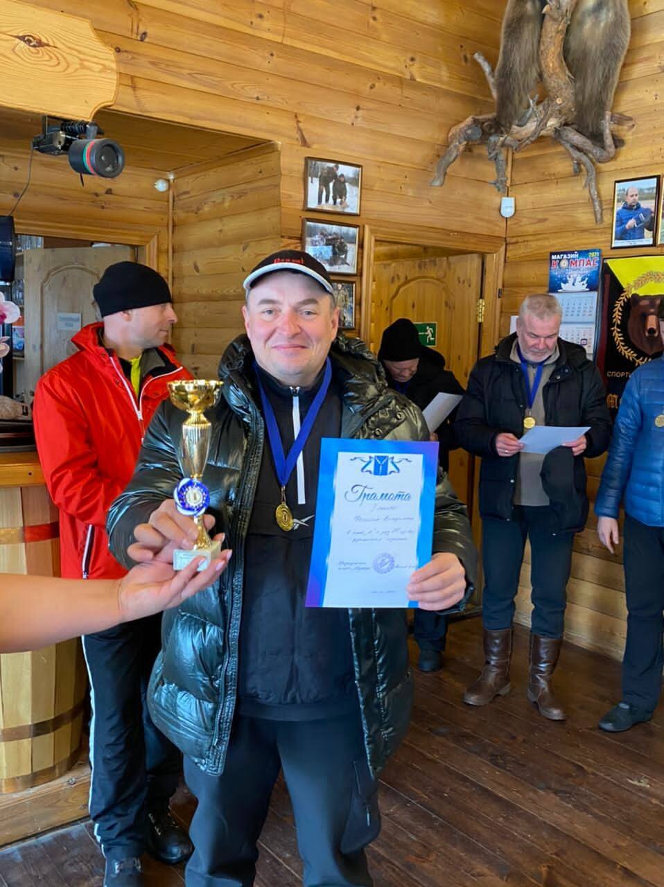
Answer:
<svg viewBox="0 0 664 887"><path fill-rule="evenodd" d="M167 383L189 379L166 340L177 317L166 281L133 262L110 265L94 287L101 323L84 326L78 349L39 381L34 420L51 498L59 508L62 576L116 578L108 507L129 483ZM105 887L143 884L140 856L186 859L191 844L171 818L177 750L146 709L160 649L161 616L83 638L91 683L90 814L106 856Z"/></svg>

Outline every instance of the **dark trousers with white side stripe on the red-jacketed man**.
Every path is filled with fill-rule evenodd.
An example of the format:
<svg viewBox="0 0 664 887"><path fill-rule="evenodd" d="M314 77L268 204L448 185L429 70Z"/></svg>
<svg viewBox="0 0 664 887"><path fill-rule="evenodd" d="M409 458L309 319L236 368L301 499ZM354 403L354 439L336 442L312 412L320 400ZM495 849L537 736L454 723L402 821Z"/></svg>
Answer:
<svg viewBox="0 0 664 887"><path fill-rule="evenodd" d="M161 616L150 616L83 638L92 704L90 815L111 860L145 852L147 813L168 806L178 788L180 754L146 707L161 624Z"/></svg>

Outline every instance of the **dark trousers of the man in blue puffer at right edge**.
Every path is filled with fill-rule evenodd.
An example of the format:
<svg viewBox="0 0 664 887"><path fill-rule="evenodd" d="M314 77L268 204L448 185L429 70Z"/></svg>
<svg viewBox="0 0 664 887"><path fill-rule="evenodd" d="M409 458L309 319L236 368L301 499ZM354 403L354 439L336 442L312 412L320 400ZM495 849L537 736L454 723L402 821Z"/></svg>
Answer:
<svg viewBox="0 0 664 887"><path fill-rule="evenodd" d="M664 527L625 518L627 640L622 660L622 698L652 712L661 692L664 632Z"/></svg>

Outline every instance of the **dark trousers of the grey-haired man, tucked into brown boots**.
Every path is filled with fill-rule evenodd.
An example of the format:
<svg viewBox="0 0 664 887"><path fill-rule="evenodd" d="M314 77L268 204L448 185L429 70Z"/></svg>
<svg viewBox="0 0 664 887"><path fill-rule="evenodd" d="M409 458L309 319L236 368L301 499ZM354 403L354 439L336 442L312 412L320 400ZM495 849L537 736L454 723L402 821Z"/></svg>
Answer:
<svg viewBox="0 0 664 887"><path fill-rule="evenodd" d="M514 506L512 514L510 521L485 518L482 522L484 627L491 631L510 628L526 538L529 538L533 585L531 630L542 638L562 638L573 533L550 531L555 523L549 506Z"/></svg>

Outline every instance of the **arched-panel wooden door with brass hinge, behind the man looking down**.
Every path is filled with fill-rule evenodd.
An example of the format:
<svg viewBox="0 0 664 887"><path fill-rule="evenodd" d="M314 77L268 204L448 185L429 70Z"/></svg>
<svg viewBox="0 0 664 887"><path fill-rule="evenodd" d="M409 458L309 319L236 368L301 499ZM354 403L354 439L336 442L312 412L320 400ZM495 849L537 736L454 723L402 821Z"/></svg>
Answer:
<svg viewBox="0 0 664 887"><path fill-rule="evenodd" d="M483 257L477 254L375 263L371 349L377 353L383 330L397 318L436 323L438 339L430 347L445 357L447 369L465 388L478 359L482 267ZM450 453L449 476L459 498L470 509L472 458L466 451Z"/></svg>

